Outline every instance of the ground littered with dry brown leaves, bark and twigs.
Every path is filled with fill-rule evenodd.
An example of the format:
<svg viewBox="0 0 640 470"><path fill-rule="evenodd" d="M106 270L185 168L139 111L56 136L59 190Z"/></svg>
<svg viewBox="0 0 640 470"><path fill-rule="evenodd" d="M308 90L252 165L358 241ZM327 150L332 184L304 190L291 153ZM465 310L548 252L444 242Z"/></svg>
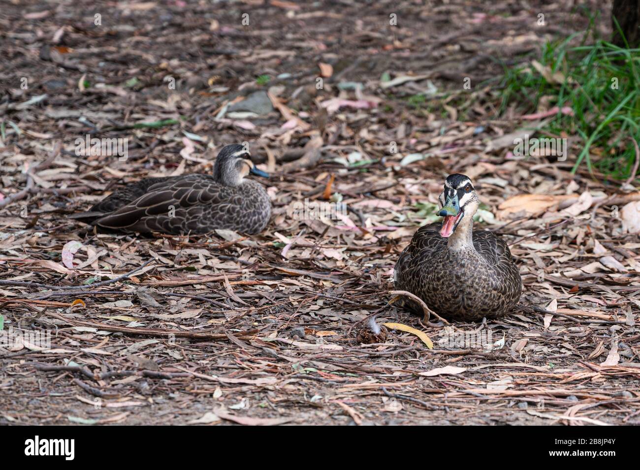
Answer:
<svg viewBox="0 0 640 470"><path fill-rule="evenodd" d="M4 2L0 314L52 336L0 346L0 423L639 424L640 240L618 211L635 196L572 175L575 148L514 157L532 121L497 114L503 67L582 31L583 7L607 34L610 6L569 3ZM86 134L127 158L79 155ZM243 141L271 173L260 235L67 218ZM455 325L480 346L387 304L456 172L524 282L511 315ZM292 215L332 196L349 211ZM433 349L397 329L359 343L376 311Z"/></svg>

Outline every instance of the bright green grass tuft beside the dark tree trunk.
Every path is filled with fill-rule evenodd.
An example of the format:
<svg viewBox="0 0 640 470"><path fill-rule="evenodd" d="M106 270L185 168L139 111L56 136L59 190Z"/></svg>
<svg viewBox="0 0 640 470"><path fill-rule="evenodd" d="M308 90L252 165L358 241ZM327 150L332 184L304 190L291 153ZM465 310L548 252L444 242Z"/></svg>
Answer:
<svg viewBox="0 0 640 470"><path fill-rule="evenodd" d="M640 49L598 38L570 45L575 36L545 45L538 62L550 73L531 64L505 68L501 111L517 104L534 113L541 100L548 107L570 107L573 116L557 114L545 130L582 139L573 173L586 163L589 171L628 178L636 159L630 138L640 141Z"/></svg>

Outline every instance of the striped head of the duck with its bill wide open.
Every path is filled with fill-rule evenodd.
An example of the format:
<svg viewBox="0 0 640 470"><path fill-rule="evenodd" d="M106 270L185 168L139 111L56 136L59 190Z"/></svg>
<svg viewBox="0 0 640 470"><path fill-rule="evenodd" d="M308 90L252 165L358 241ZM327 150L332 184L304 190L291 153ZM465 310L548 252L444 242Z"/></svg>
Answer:
<svg viewBox="0 0 640 470"><path fill-rule="evenodd" d="M473 224L473 217L480 203L474 185L470 178L460 173L447 176L444 191L440 194L440 211L438 215L444 217L440 235L451 237L460 224Z"/></svg>

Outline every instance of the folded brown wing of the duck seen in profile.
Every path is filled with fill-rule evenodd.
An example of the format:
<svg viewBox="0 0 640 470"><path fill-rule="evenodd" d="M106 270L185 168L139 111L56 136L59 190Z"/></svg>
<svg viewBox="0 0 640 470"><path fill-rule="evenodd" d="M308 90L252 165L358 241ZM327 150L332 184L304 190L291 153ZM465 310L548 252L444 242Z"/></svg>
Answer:
<svg viewBox="0 0 640 470"><path fill-rule="evenodd" d="M150 186L143 196L100 217L94 224L129 231L163 230L166 224L178 228L187 213L193 219L203 207L215 203L220 198L220 189L220 184L211 178L186 177L159 182Z"/></svg>

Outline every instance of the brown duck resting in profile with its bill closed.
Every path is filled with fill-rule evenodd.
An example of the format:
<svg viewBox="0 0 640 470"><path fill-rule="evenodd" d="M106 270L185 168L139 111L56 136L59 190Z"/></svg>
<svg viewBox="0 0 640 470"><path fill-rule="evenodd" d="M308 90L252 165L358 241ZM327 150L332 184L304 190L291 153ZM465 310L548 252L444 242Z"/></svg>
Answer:
<svg viewBox="0 0 640 470"><path fill-rule="evenodd" d="M255 168L244 146L227 145L218 153L212 175L145 178L72 218L125 232L259 233L271 216L271 201L261 184L244 178L248 173L269 176Z"/></svg>

